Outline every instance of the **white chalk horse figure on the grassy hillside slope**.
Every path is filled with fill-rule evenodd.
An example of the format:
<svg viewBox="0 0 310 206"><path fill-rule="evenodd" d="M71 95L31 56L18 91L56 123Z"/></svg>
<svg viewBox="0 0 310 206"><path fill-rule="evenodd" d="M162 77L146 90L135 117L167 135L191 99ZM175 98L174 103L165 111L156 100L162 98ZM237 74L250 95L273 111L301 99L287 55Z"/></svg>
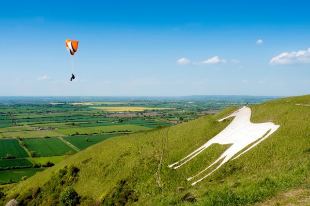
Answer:
<svg viewBox="0 0 310 206"><path fill-rule="evenodd" d="M224 119L227 119L233 116L235 116L235 118L223 131L221 131L214 138L209 140L207 143L203 144L201 147L199 147L197 150L195 150L194 152L192 152L185 158L169 165L169 167L175 166L174 169L181 167L186 162L188 162L192 158L199 155L204 149L208 148L213 143L233 144L215 162L210 164L208 167L206 167L204 170L202 170L200 173L196 174L195 176L187 178L187 180L190 180L198 176L199 174L202 174L204 171L206 171L207 169L215 165L219 160L224 158L223 161L212 172L205 175L204 177L197 180L196 182L192 183L192 185L195 185L197 182L202 181L202 179L206 178L207 176L212 174L214 171L216 171L220 166L222 166L225 162L231 159L235 154L240 152L242 149L247 147L250 143L253 143L257 141L258 139L262 138L256 143L254 143L253 145L251 145L248 149L240 153L235 158L238 158L242 154L248 152L248 150L250 150L257 144L261 143L264 139L266 139L268 136L270 136L273 132L275 132L280 127L279 125L275 125L271 122L260 123L260 124L251 123L250 122L251 110L248 107L243 107L233 112L233 114L229 115L228 117L218 120L218 122L223 121Z"/></svg>

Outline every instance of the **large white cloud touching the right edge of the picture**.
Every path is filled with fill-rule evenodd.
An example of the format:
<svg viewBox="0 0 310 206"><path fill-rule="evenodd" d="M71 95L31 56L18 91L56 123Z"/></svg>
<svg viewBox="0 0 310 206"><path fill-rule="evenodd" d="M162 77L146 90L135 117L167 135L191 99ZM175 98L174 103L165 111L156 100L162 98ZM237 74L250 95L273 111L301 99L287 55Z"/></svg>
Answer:
<svg viewBox="0 0 310 206"><path fill-rule="evenodd" d="M284 52L271 59L270 64L310 63L310 48L308 50Z"/></svg>

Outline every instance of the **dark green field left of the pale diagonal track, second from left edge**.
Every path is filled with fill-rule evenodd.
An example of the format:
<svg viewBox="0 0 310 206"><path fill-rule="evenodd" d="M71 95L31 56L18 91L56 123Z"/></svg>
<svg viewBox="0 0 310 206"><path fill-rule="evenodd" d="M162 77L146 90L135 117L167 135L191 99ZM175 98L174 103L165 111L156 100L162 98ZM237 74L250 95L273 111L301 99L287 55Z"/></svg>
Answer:
<svg viewBox="0 0 310 206"><path fill-rule="evenodd" d="M77 152L59 138L23 139L22 141L29 151L35 151L35 156L57 156L69 151Z"/></svg>

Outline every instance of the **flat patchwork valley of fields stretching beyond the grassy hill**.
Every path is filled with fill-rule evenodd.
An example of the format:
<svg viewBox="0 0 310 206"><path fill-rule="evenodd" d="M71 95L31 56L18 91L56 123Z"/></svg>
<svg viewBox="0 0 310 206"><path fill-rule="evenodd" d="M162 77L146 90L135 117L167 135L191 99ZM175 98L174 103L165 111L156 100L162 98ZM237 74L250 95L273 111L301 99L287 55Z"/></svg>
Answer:
<svg viewBox="0 0 310 206"><path fill-rule="evenodd" d="M71 102L61 97L1 98L0 184L26 179L110 137L185 123L243 105L243 99L257 104L272 98L206 96L195 102L124 97L116 102L92 102L92 97L88 102L74 102L83 97L69 98ZM52 102L44 102L47 100Z"/></svg>

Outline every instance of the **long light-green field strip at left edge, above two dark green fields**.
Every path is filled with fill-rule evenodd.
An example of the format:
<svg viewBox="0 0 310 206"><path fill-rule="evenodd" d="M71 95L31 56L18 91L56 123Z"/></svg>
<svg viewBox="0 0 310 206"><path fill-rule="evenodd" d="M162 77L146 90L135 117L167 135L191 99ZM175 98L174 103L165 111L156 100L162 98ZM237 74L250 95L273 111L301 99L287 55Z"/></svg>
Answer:
<svg viewBox="0 0 310 206"><path fill-rule="evenodd" d="M18 131L18 132L2 132L1 133L6 138L30 138L30 137L59 137L62 134L54 130L31 130L31 131Z"/></svg>

